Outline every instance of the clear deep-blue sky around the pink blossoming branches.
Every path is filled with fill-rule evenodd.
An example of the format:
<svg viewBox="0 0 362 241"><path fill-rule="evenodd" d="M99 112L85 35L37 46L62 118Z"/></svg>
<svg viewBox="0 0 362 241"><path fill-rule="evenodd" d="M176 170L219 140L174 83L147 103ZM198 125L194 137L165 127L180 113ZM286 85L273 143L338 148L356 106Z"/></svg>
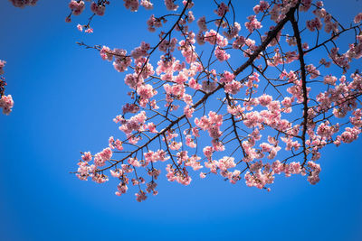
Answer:
<svg viewBox="0 0 362 241"><path fill-rule="evenodd" d="M0 2L0 59L15 101L0 116L1 240L362 240L361 140L324 150L318 185L278 176L271 192L219 177L185 187L163 171L157 197L138 203L133 190L115 196L114 182L71 175L80 151L100 151L117 132L112 118L128 91L123 74L75 42L131 50L155 36L150 13L129 13L122 1L95 19L94 33L78 32L89 12L64 23L64 2ZM343 23L362 10L361 1L326 2ZM254 3L239 5L241 23Z"/></svg>

